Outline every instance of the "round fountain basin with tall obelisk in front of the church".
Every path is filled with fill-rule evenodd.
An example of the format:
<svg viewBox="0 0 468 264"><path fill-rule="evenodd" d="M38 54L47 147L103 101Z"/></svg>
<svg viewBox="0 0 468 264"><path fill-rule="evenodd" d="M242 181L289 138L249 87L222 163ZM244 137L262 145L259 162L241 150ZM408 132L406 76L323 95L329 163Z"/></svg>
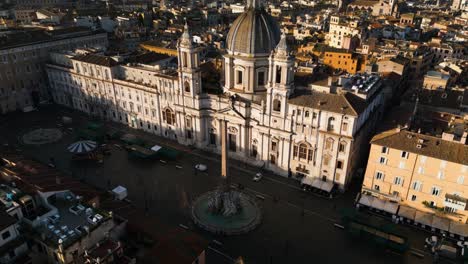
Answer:
<svg viewBox="0 0 468 264"><path fill-rule="evenodd" d="M216 234L235 235L253 230L261 222L255 198L231 187L228 177L227 122L221 130L221 183L202 194L192 205L192 218L201 228Z"/></svg>

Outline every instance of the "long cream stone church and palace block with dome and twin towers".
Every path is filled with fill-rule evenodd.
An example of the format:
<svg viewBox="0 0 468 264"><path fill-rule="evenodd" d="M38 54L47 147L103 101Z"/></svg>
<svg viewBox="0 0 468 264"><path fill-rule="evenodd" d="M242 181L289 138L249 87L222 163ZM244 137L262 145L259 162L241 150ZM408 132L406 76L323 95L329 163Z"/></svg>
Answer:
<svg viewBox="0 0 468 264"><path fill-rule="evenodd" d="M187 25L177 70L63 55L47 65L51 93L56 103L216 153L227 121L230 157L344 190L367 160L382 114L380 80L366 93L345 91L341 79L315 88L295 82L286 36L257 1L233 23L226 46L222 94L204 91Z"/></svg>

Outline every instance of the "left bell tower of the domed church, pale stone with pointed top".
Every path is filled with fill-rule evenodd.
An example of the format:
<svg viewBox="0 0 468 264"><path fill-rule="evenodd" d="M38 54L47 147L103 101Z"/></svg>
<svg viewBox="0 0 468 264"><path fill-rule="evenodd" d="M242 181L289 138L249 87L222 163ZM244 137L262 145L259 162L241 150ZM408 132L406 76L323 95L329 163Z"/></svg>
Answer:
<svg viewBox="0 0 468 264"><path fill-rule="evenodd" d="M177 43L179 83L181 93L195 97L201 93L200 54L193 45L187 22Z"/></svg>

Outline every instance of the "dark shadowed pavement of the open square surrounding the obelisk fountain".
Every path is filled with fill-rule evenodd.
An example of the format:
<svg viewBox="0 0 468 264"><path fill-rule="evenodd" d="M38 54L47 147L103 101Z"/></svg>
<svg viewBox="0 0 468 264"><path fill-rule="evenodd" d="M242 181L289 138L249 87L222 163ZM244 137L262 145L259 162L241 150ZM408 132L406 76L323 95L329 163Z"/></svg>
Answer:
<svg viewBox="0 0 468 264"><path fill-rule="evenodd" d="M14 113L0 117L0 143L19 144L17 138L24 131L35 127L56 127L60 117L73 117L75 131L86 123L83 114L63 108L49 107L39 112ZM76 136L66 133L62 140L46 146L17 147L43 162L50 157L57 167L102 189L117 185L127 187L129 198L143 210L170 224L183 224L209 240L211 252L217 259L244 256L247 263L431 263L430 255L423 252L423 240L427 233L402 227L411 247L424 257L406 253L399 255L375 247L367 241L351 238L335 226L339 223L339 211L353 207L359 184L336 198L304 193L299 184L271 173L253 182L258 168L238 161L230 161L233 183L240 183L245 190L258 195L263 210L263 222L253 232L233 237L217 237L199 230L190 219L191 201L198 195L215 188L220 180L220 158L213 153L180 146L173 141L132 130L119 124L108 124L129 131L140 138L170 146L183 154L175 161L140 161L128 158L126 151L111 145L111 155L100 166L74 166L66 146ZM203 163L207 172L196 172L194 165ZM273 198L276 199L273 199ZM208 257L210 259L210 256ZM220 263L219 260L213 261Z"/></svg>

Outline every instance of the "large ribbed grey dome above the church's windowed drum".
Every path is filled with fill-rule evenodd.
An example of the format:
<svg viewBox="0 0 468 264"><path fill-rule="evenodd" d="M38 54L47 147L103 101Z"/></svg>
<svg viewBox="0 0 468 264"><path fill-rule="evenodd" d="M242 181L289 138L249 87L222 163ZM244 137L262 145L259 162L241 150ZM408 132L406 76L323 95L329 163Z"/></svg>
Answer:
<svg viewBox="0 0 468 264"><path fill-rule="evenodd" d="M232 24L226 48L234 53L269 54L280 40L279 25L255 0L251 1Z"/></svg>

